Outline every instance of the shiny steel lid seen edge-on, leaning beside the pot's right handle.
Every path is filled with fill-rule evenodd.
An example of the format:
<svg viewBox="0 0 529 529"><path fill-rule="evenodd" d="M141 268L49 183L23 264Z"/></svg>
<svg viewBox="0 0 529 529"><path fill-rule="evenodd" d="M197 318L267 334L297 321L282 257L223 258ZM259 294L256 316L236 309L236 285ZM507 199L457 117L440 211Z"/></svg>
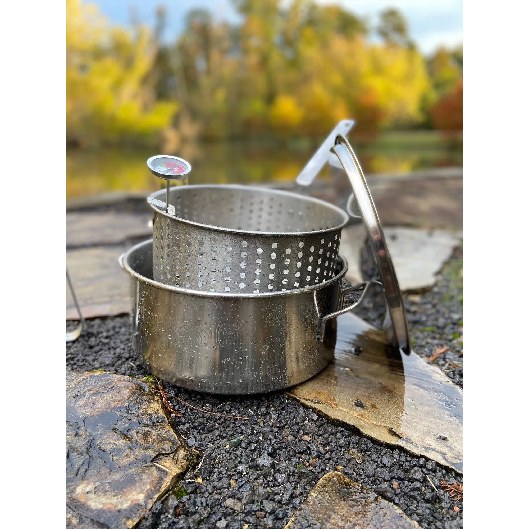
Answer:
<svg viewBox="0 0 529 529"><path fill-rule="evenodd" d="M361 217L368 228L369 240L375 254L375 259L380 274L380 279L386 294L388 313L390 321L385 325L385 330L389 334L391 342L409 354L409 334L408 322L404 310L404 303L400 295L393 261L384 239L384 232L378 218L373 198L369 192L362 168L349 142L338 135L331 151L338 156L340 163L349 177L353 188L354 198Z"/></svg>

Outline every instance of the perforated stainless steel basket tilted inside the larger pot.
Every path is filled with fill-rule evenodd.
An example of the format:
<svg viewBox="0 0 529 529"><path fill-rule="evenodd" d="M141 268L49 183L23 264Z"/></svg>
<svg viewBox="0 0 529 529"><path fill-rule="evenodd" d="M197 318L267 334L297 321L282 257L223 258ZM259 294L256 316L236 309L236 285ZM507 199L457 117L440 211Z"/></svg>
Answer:
<svg viewBox="0 0 529 529"><path fill-rule="evenodd" d="M152 198L165 203L166 191ZM153 278L212 292L258 293L334 277L348 215L312 197L236 185L172 187L153 205ZM171 208L172 209L172 208Z"/></svg>

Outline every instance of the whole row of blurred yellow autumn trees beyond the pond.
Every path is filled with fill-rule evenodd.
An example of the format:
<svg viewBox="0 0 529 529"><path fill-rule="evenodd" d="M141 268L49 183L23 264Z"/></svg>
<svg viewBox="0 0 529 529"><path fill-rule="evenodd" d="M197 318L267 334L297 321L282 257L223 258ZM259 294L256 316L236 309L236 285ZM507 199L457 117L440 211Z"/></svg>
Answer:
<svg viewBox="0 0 529 529"><path fill-rule="evenodd" d="M239 25L192 10L162 45L162 8L153 34L138 27L133 37L68 0L70 141L154 141L171 127L184 139L321 136L345 117L360 133L417 126L462 77L462 48L426 61L394 9L381 13L383 42L373 45L366 23L340 6L233 2Z"/></svg>

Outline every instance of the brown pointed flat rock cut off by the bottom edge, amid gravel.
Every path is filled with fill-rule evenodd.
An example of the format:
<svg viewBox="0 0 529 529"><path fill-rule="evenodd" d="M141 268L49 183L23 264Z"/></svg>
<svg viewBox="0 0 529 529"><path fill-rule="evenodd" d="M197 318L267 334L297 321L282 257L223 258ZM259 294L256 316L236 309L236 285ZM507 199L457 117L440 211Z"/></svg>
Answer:
<svg viewBox="0 0 529 529"><path fill-rule="evenodd" d="M421 529L402 510L340 472L325 474L285 529Z"/></svg>

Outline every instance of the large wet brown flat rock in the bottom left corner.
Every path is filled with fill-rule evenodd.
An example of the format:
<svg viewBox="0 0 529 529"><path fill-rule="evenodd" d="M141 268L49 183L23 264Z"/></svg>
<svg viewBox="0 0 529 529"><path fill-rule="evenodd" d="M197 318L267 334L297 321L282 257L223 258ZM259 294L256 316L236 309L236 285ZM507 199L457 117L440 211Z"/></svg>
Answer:
<svg viewBox="0 0 529 529"><path fill-rule="evenodd" d="M147 382L66 374L67 527L137 524L193 457Z"/></svg>

